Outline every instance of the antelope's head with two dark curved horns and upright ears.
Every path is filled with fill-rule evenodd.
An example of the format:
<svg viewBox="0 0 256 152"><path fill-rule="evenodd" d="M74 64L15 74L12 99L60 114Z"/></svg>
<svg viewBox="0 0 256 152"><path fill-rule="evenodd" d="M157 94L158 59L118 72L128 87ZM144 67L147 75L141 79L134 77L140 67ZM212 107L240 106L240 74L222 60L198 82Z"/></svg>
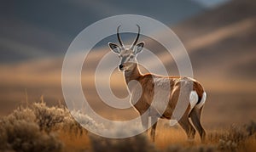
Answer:
<svg viewBox="0 0 256 152"><path fill-rule="evenodd" d="M138 33L137 37L132 42L130 48L125 48L120 36L119 36L119 27L117 28L117 37L120 43L120 46L113 44L112 42L108 42L109 48L113 51L113 53L117 53L120 58L119 70L132 70L137 65L137 53L142 52L144 42L140 42L137 44L137 40L140 37L140 26L137 25Z"/></svg>

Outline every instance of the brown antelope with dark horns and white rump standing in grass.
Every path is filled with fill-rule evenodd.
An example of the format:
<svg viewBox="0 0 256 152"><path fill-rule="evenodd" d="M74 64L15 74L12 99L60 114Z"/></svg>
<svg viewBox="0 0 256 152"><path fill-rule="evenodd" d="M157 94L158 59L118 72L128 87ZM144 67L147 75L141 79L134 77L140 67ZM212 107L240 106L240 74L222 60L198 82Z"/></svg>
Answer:
<svg viewBox="0 0 256 152"><path fill-rule="evenodd" d="M138 32L137 37L131 45L131 48L125 48L121 38L119 36L119 27L117 27L117 37L119 41L119 45L114 44L112 42L108 42L109 48L113 51L113 53L117 53L120 58L120 64L118 65L118 69L124 73L126 86L128 87L131 93L131 103L133 107L138 111L141 115L141 121L143 128L148 132L148 118L151 119L151 132L150 137L154 142L155 129L157 126L157 121L159 118L171 120L173 110L177 104L179 93L181 91L181 84L185 84L183 87L186 88L186 84L190 84L191 89L183 89L183 96L186 97L189 104L181 116L177 123L183 128L184 132L186 132L188 140L193 140L195 138L195 129L199 132L201 137L201 142L205 141L206 132L205 129L201 126L201 112L204 107L205 101L207 99L207 93L204 91L204 88L201 84L195 79L185 76L158 76L154 74L142 74L138 68L137 63L137 54L141 53L143 50L144 42L137 43L140 36L140 26L137 25ZM169 97L166 97L168 100L168 104L166 109L160 115L157 110L149 110L146 115L143 115L150 104L152 103L152 99L154 96L154 79L157 79L160 85L169 85L170 93ZM167 81L166 81L167 80ZM137 81L142 87L143 93L136 101L132 101L132 96L137 94L137 87L128 86L128 83L131 81ZM167 83L167 84L166 84ZM135 103L136 102L136 103ZM179 101L179 102L183 102ZM192 121L189 121L190 120ZM194 127L192 126L192 123Z"/></svg>

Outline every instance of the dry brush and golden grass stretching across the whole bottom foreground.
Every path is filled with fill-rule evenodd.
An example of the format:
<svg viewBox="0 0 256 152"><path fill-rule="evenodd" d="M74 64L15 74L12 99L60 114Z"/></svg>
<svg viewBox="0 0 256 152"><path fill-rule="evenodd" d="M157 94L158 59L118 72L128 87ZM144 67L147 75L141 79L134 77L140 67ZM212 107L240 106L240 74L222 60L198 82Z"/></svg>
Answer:
<svg viewBox="0 0 256 152"><path fill-rule="evenodd" d="M78 113L78 112L77 112ZM81 114L79 114L81 115ZM96 127L87 115L84 125ZM208 131L207 143L186 141L179 127L159 126L156 143L145 134L133 138L109 139L90 134L73 120L64 106L48 107L44 102L14 110L0 120L0 150L5 151L254 151L256 123L227 130Z"/></svg>

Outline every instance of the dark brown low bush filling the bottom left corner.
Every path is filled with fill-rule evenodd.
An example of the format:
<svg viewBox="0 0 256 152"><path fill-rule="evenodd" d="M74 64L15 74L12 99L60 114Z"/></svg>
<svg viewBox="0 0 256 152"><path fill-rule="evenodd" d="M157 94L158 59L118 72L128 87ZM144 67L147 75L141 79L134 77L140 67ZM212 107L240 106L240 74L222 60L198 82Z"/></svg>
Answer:
<svg viewBox="0 0 256 152"><path fill-rule="evenodd" d="M18 113L23 115L18 116L18 119L16 119L16 114ZM15 151L61 150L62 144L59 139L53 134L40 132L38 124L35 121L30 120L30 118L33 118L30 110L25 110L23 113L15 111L14 114L15 115L9 115L1 120L0 149ZM31 117L22 119L24 115L30 115Z"/></svg>

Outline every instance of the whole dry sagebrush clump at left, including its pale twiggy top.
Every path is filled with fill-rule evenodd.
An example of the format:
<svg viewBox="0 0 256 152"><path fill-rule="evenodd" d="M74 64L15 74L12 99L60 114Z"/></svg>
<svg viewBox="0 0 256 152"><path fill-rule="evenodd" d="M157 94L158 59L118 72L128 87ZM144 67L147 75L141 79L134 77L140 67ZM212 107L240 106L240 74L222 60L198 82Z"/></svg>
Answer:
<svg viewBox="0 0 256 152"><path fill-rule="evenodd" d="M49 108L44 102L20 106L0 119L0 150L61 151L63 144L57 137L60 131L80 135L87 132L65 107Z"/></svg>

